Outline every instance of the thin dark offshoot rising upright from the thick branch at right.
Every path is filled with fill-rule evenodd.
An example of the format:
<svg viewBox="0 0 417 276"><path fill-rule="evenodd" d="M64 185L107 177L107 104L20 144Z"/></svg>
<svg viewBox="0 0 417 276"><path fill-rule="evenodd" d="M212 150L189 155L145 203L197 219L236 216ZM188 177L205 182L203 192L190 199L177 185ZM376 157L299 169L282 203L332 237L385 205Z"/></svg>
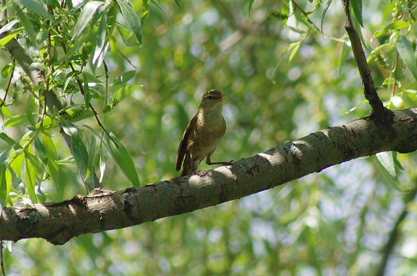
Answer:
<svg viewBox="0 0 417 276"><path fill-rule="evenodd" d="M378 121L388 123L392 120L392 112L384 108L381 99L378 97L377 89L374 86L372 75L370 74L370 68L368 62L366 62L364 48L361 45L361 40L353 27L352 18L350 16L350 3L349 0L342 0L343 10L345 14L344 28L348 33L350 43L352 45L353 57L359 69L359 75L361 75L362 84L364 84L365 98L369 101L372 108L372 116Z"/></svg>

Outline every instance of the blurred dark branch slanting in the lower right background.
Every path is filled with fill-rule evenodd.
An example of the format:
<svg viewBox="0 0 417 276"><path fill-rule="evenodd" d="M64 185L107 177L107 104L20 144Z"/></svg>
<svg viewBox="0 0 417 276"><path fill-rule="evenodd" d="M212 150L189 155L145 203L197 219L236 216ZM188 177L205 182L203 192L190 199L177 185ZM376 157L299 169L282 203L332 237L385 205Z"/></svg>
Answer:
<svg viewBox="0 0 417 276"><path fill-rule="evenodd" d="M404 196L403 212L401 212L401 214L398 216L396 223L394 225L394 228L391 230L388 241L385 244L385 247L381 249L382 258L381 258L381 262L379 262L378 272L375 275L385 275L385 269L387 268L388 258L390 258L392 251L394 251L395 244L401 232L400 225L401 223L403 223L405 217L407 216L409 212L408 203L414 201L414 199L416 198L416 195L417 195L417 189L414 189Z"/></svg>

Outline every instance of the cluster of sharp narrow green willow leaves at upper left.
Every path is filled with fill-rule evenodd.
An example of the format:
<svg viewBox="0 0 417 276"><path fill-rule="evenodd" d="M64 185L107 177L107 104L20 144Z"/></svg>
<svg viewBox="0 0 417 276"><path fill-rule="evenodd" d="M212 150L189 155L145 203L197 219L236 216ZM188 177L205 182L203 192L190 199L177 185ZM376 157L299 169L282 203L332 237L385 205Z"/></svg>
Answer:
<svg viewBox="0 0 417 276"><path fill-rule="evenodd" d="M1 25L0 45L6 47L17 38L34 51L32 64L19 67L12 60L1 70L4 79L13 79L13 86L0 101L4 122L0 138L6 143L0 158L0 205L12 205L22 197L27 202L44 202L41 184L58 187L64 182L62 166L68 164L75 164L87 190L92 190L97 181L95 166L102 176L106 170L103 149L108 149L132 184L139 185L128 151L99 120L105 120L106 113L141 88L128 84L135 70L110 81L104 58L109 50L114 60L123 57L119 38L128 47L141 47L150 3L16 0L3 7L13 15ZM37 71L40 79L18 75L16 81L19 68ZM19 113L16 99L23 93L29 102L27 112ZM97 110L99 105L101 111ZM91 117L101 131L79 124ZM20 138L13 137L15 129L27 131ZM67 157L60 157L56 150L59 132L69 137L71 154Z"/></svg>

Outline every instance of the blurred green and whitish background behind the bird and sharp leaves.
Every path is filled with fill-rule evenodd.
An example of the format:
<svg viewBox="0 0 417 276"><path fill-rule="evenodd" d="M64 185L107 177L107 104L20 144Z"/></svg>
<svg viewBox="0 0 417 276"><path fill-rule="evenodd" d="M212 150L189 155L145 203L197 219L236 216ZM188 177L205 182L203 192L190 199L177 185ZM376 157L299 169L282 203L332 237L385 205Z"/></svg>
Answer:
<svg viewBox="0 0 417 276"><path fill-rule="evenodd" d="M392 22L395 11L407 10L407 3L363 3L368 49L389 39L370 42L374 32ZM143 47L125 47L120 40L126 58L106 58L110 81L136 70L129 84L143 86L106 114L104 122L128 149L141 184L179 175L174 167L182 131L210 89L226 95L227 129L213 162L246 158L369 114L368 103L361 104L363 89L352 55L339 66L348 45L339 1L324 17L324 34L312 26L320 28L325 3L311 14L310 28L295 16L286 25L277 19L287 1L256 0L250 17L248 1L181 1L182 8L174 1L158 4L165 14L151 5ZM297 4L309 11L319 2ZM414 29L411 25L409 37ZM289 61L291 51L281 53L294 42L300 48ZM394 55L387 53L388 62ZM5 53L0 58L3 66L10 62ZM381 86L389 72L374 60L370 67ZM409 73L398 68L404 86L415 87ZM389 105L393 95L386 86L379 95ZM401 106L391 107L416 105L413 98L401 99ZM17 101L16 112L36 108L29 94ZM83 124L99 129L93 119L78 125ZM17 139L25 131L8 134ZM67 158L62 137L56 134L53 140L59 158ZM396 184L415 190L416 154L396 157L403 166ZM104 188L129 187L112 159L106 161ZM85 193L75 166L63 167L60 178L59 186L43 184L47 201ZM40 239L20 240L11 244L11 252L4 250L6 275L373 275L385 265L387 275L412 275L417 273L417 206L389 182L376 158L360 158L237 201L82 235L59 247ZM403 212L397 225L401 234L385 260L385 245Z"/></svg>

